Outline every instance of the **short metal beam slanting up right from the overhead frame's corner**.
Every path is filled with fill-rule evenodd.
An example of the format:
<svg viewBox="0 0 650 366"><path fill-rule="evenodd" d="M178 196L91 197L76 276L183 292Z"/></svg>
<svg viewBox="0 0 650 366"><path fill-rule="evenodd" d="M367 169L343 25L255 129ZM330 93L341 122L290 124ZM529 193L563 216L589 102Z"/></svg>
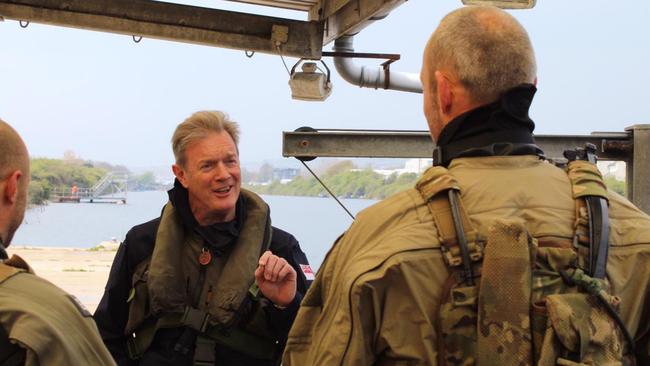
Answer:
<svg viewBox="0 0 650 366"><path fill-rule="evenodd" d="M325 21L323 45L343 35L359 32L369 25L373 18L382 18L405 2L406 0L323 1L322 7L319 8L320 19Z"/></svg>

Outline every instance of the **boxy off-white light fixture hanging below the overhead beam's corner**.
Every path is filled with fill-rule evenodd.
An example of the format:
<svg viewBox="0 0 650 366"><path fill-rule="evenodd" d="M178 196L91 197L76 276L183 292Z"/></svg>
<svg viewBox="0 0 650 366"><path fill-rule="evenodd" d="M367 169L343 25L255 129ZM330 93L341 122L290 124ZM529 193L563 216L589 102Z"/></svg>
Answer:
<svg viewBox="0 0 650 366"><path fill-rule="evenodd" d="M307 101L323 101L327 99L332 93L330 69L323 60L320 60L320 62L327 70L327 74L323 73L316 62L304 61L304 59L298 60L291 68L291 77L289 79L291 98ZM296 67L301 63L302 71L296 71Z"/></svg>

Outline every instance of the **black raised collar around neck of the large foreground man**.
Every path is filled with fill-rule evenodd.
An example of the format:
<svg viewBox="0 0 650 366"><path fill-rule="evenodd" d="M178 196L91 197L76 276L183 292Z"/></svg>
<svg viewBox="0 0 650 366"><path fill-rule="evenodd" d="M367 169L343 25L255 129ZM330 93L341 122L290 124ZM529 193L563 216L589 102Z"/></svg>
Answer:
<svg viewBox="0 0 650 366"><path fill-rule="evenodd" d="M539 155L535 123L528 116L537 89L532 84L512 88L494 103L454 118L440 133L433 165L448 166L459 157Z"/></svg>

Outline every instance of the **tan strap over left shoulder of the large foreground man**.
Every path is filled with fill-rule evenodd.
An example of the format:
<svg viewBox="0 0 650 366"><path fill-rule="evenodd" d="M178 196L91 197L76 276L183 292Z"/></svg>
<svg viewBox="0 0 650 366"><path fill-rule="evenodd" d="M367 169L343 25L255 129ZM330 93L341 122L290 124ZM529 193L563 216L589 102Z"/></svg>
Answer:
<svg viewBox="0 0 650 366"><path fill-rule="evenodd" d="M483 258L483 246L463 207L458 181L446 168L434 166L424 172L415 187L433 216L445 263L473 286L472 263Z"/></svg>

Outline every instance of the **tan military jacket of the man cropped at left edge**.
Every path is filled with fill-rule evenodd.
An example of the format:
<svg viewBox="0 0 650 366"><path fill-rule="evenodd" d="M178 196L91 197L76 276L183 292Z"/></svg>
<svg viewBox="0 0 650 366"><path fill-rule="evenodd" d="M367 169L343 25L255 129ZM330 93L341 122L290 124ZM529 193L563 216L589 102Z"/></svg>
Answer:
<svg viewBox="0 0 650 366"><path fill-rule="evenodd" d="M25 365L115 365L91 314L29 268L0 263L0 325Z"/></svg>

